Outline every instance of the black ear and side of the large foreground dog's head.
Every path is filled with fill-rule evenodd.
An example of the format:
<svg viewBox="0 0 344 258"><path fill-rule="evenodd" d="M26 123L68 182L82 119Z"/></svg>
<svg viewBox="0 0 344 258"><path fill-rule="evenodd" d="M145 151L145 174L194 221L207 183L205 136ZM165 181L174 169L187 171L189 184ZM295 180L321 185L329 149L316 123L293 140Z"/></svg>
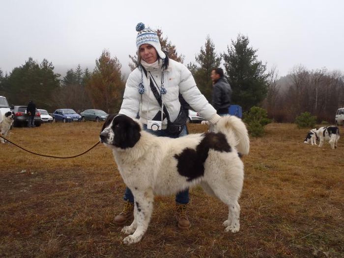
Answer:
<svg viewBox="0 0 344 258"><path fill-rule="evenodd" d="M115 146L121 149L132 148L140 140L140 125L127 116L117 116L114 125Z"/></svg>

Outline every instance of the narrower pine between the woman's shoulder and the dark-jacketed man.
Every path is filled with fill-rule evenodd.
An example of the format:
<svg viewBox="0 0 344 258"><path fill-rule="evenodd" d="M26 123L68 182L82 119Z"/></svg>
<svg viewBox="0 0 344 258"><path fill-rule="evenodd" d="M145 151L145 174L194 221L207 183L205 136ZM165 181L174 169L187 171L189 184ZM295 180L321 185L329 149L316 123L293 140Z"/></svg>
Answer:
<svg viewBox="0 0 344 258"><path fill-rule="evenodd" d="M201 47L200 53L195 57L196 63L187 65L194 75L196 84L206 99L212 100L212 81L211 71L220 66L221 57L215 52L215 45L208 35L205 39L204 48Z"/></svg>

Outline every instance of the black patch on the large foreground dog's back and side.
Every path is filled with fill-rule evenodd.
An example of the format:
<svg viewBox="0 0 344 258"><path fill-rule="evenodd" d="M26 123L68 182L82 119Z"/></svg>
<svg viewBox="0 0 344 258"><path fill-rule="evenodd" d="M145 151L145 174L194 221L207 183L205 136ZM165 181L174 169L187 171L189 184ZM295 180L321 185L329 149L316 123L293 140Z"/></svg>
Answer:
<svg viewBox="0 0 344 258"><path fill-rule="evenodd" d="M226 136L223 133L207 132L196 150L186 148L180 154L174 155L178 161L178 173L192 181L204 175L204 162L208 158L209 149L220 152L231 152Z"/></svg>

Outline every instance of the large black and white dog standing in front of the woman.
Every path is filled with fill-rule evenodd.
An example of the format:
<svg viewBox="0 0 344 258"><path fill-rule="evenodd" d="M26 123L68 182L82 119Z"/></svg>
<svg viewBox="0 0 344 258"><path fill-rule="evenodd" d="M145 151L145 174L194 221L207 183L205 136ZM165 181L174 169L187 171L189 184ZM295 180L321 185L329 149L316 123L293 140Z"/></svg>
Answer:
<svg viewBox="0 0 344 258"><path fill-rule="evenodd" d="M137 243L147 230L154 195L170 195L201 185L227 204L225 231L239 231L240 196L250 141L245 124L235 116L222 117L212 132L180 138L157 137L143 130L138 120L110 115L100 141L114 154L124 183L135 198L134 221L124 226L123 242Z"/></svg>

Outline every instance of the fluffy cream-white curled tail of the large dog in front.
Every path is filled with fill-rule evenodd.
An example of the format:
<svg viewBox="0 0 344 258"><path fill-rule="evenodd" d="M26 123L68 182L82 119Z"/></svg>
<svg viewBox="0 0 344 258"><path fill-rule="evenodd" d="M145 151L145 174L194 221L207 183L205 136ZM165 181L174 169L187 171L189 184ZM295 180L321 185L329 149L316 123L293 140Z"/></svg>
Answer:
<svg viewBox="0 0 344 258"><path fill-rule="evenodd" d="M215 128L225 133L229 144L235 146L243 155L249 154L250 138L244 122L236 116L224 116L217 122Z"/></svg>

